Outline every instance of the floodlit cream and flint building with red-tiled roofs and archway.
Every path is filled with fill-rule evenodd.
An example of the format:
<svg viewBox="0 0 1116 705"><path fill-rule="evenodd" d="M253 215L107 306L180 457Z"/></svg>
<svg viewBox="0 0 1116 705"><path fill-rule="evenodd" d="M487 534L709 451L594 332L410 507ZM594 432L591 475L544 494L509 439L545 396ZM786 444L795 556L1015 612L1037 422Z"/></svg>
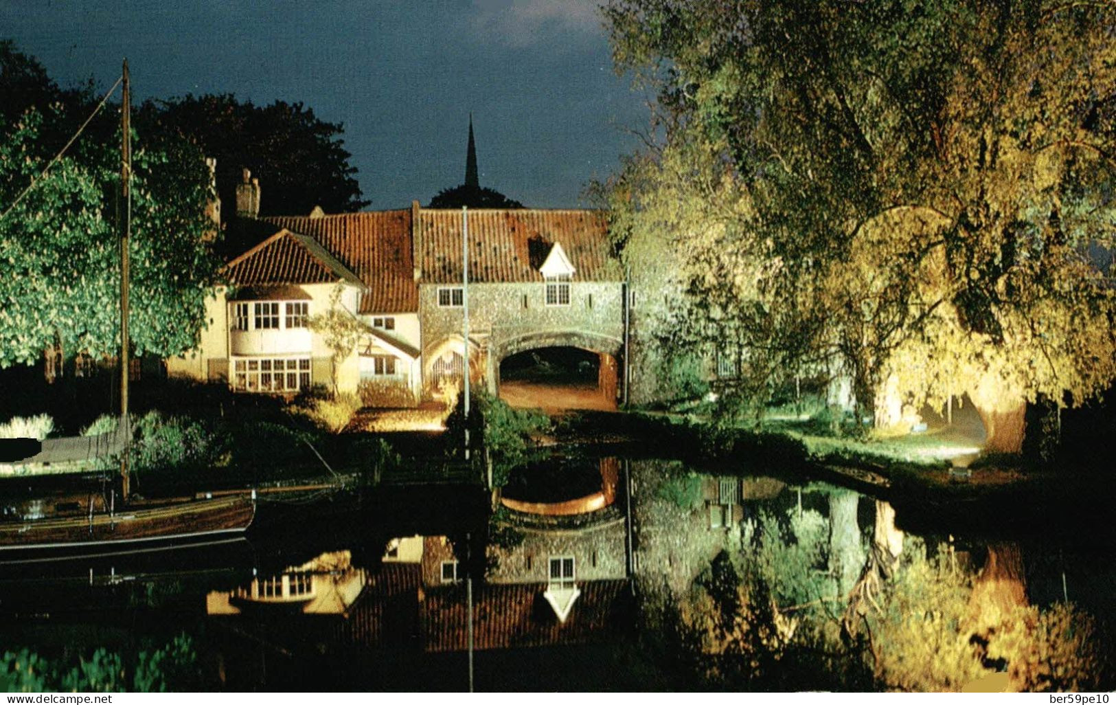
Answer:
<svg viewBox="0 0 1116 705"><path fill-rule="evenodd" d="M414 406L460 389L468 304L472 383L496 393L503 359L574 346L598 355L598 389L615 402L625 284L605 213L415 201L259 217L260 199L246 170L238 215L263 239L225 266L200 345L169 360L169 374L246 393L321 384L368 406Z"/></svg>

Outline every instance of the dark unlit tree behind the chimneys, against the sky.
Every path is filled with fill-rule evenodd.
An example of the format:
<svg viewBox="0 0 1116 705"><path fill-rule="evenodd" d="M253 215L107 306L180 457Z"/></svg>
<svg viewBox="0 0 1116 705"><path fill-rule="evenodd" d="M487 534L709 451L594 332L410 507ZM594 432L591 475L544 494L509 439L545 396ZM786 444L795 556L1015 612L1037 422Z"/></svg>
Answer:
<svg viewBox="0 0 1116 705"><path fill-rule="evenodd" d="M243 169L260 179L261 215L350 212L368 206L360 198L356 168L341 140L344 127L319 120L301 103L267 106L231 94L187 95L147 101L136 124L181 135L217 159L218 194L223 218L237 212L235 189Z"/></svg>

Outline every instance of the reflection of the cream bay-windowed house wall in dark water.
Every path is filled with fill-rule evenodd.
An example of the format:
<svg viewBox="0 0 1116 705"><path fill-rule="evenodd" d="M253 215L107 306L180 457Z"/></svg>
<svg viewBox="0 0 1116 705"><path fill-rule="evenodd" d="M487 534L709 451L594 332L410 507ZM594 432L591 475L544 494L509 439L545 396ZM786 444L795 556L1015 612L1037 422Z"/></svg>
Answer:
<svg viewBox="0 0 1116 705"><path fill-rule="evenodd" d="M205 596L208 615L240 615L251 607L296 607L304 615L344 615L365 585L365 572L353 568L348 551L323 553L282 573L254 578L231 592Z"/></svg>

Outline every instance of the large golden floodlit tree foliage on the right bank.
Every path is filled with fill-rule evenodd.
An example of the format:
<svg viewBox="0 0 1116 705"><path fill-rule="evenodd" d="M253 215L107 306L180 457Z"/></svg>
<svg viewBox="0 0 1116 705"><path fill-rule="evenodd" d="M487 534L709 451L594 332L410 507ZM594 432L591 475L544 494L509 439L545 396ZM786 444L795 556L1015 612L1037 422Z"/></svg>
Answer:
<svg viewBox="0 0 1116 705"><path fill-rule="evenodd" d="M658 139L614 180L620 237L668 228L689 312L714 322L685 328L695 341L742 343L767 387L840 370L879 423L969 393L998 450L1018 450L1026 401L1079 403L1116 378L1116 303L1088 254L1116 231L1116 6L605 16L617 68L658 92ZM695 202L663 218L658 194Z"/></svg>

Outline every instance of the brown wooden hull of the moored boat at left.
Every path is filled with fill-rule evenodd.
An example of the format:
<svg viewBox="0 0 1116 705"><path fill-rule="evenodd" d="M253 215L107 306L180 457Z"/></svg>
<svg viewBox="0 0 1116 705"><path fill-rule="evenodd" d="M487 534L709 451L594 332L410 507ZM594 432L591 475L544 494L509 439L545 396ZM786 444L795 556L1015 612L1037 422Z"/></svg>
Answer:
<svg viewBox="0 0 1116 705"><path fill-rule="evenodd" d="M0 524L0 551L116 546L243 533L256 516L244 497L128 506L115 513Z"/></svg>

